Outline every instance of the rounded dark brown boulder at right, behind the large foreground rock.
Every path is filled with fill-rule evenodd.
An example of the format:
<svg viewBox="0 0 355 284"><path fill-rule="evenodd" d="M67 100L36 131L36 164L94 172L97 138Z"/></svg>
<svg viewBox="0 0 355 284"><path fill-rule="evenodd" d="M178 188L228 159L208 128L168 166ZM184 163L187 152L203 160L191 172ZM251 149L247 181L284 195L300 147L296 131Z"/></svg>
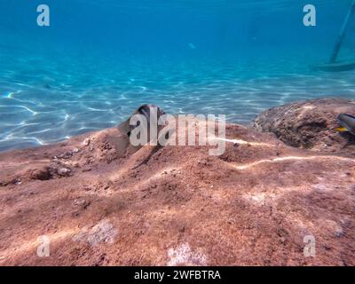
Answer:
<svg viewBox="0 0 355 284"><path fill-rule="evenodd" d="M305 100L266 110L251 127L272 132L289 146L354 156L354 136L334 130L338 114L343 113L355 115L355 100Z"/></svg>

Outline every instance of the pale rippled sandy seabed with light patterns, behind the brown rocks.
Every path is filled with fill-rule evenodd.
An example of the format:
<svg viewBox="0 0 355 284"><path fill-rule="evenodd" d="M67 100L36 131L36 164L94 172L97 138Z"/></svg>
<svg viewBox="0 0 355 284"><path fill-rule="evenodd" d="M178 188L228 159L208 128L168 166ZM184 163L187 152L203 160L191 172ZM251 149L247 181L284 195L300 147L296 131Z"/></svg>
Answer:
<svg viewBox="0 0 355 284"><path fill-rule="evenodd" d="M288 61L73 62L2 53L0 151L112 127L144 103L242 124L290 101L355 98L354 72L318 73Z"/></svg>

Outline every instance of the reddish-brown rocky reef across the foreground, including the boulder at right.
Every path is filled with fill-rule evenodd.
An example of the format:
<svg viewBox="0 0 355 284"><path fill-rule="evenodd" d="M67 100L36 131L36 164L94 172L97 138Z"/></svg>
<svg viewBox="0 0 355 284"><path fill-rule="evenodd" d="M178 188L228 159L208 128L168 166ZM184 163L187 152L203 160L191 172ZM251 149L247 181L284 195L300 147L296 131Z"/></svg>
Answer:
<svg viewBox="0 0 355 284"><path fill-rule="evenodd" d="M353 146L330 130L353 104L306 101L260 114L255 129L229 124L220 156L122 156L117 128L2 153L0 264L354 265Z"/></svg>

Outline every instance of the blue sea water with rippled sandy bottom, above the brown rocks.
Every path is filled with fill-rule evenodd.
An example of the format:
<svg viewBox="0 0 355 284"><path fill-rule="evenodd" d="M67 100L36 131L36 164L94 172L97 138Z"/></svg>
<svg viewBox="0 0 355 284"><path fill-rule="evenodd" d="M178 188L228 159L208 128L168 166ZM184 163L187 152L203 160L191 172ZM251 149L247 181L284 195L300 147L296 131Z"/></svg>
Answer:
<svg viewBox="0 0 355 284"><path fill-rule="evenodd" d="M50 7L50 27L36 23ZM304 27L304 5L317 26ZM355 99L324 73L351 0L1 0L0 151L112 127L138 106L248 123L299 99ZM355 59L351 20L340 59Z"/></svg>

